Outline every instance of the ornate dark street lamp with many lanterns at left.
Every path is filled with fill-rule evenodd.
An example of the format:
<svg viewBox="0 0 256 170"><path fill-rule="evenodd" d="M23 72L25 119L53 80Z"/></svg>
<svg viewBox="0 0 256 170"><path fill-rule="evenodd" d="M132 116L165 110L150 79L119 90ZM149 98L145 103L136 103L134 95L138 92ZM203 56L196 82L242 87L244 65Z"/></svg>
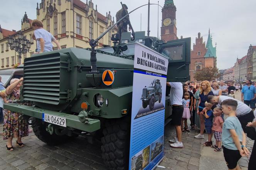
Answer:
<svg viewBox="0 0 256 170"><path fill-rule="evenodd" d="M19 32L17 34L18 38L12 38L12 36L7 37L7 41L9 44L9 47L13 48L19 55L19 63L21 64L21 54L29 52L29 49L31 47L31 42L27 40L22 32Z"/></svg>

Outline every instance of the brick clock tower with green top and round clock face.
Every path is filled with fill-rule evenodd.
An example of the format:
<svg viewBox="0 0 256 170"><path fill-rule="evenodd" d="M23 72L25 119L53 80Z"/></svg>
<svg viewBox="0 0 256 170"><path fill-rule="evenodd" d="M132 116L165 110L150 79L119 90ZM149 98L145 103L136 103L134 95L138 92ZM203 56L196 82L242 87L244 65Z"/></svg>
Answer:
<svg viewBox="0 0 256 170"><path fill-rule="evenodd" d="M173 0L165 0L162 9L161 39L165 42L177 40L176 7Z"/></svg>

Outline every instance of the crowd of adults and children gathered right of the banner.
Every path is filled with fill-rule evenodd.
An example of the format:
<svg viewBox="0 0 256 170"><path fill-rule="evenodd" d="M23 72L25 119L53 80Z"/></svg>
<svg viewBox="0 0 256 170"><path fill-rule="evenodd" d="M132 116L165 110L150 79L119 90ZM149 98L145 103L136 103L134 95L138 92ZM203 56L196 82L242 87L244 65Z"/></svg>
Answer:
<svg viewBox="0 0 256 170"><path fill-rule="evenodd" d="M250 153L246 146L247 137L256 138L256 82L246 80L244 85L224 81L203 81L200 83L167 82L170 86L170 103L172 105L172 124L175 125L176 137L170 139L170 147L183 148L182 132L190 132L199 128L195 138L204 138L207 133L205 147L212 147L215 152L223 150L227 167L240 170L237 165L241 157L249 157L248 170L255 170L256 142ZM241 90L241 100L235 98ZM224 115L227 116L224 120ZM216 143L212 142L214 136Z"/></svg>

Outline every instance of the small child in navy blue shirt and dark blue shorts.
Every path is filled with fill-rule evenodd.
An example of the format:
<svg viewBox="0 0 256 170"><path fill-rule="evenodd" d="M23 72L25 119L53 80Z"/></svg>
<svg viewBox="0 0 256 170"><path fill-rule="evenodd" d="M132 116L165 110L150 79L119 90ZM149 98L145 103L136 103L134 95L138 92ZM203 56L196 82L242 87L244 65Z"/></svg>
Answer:
<svg viewBox="0 0 256 170"><path fill-rule="evenodd" d="M204 125L205 130L208 134L208 141L204 143L205 147L212 146L212 120L213 120L213 112L212 112L212 104L205 102L205 112L201 112L204 115Z"/></svg>

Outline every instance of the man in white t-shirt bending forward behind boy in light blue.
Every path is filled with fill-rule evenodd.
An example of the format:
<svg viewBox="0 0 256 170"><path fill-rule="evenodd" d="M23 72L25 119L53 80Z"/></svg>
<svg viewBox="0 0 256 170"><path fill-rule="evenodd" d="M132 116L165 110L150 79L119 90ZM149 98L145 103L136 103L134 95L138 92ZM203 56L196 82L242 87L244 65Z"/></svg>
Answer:
<svg viewBox="0 0 256 170"><path fill-rule="evenodd" d="M228 96L209 95L207 102L216 104L216 105L217 104L221 105L221 103L227 99L236 100L235 98L228 97ZM253 111L251 110L251 108L248 105L244 104L243 102L241 102L239 100L236 100L236 101L237 101L236 117L238 118L239 122L241 123L244 133L246 133L245 127L246 127L247 123L252 122L254 119Z"/></svg>

